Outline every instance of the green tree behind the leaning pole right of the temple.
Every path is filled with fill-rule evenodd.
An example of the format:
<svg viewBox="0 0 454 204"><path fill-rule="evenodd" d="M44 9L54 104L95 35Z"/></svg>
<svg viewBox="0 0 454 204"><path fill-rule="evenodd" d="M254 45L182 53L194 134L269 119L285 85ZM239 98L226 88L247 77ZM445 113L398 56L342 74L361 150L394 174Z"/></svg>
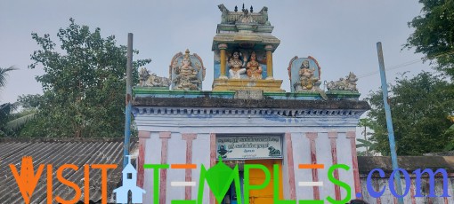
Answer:
<svg viewBox="0 0 454 204"><path fill-rule="evenodd" d="M454 107L453 85L434 74L423 72L408 78L402 75L390 86L390 106L393 115L394 137L398 155L420 155L440 152L454 141L448 131L447 116ZM368 98L372 110L368 116L372 141L377 151L389 155L389 142L385 121L385 109L381 91Z"/></svg>

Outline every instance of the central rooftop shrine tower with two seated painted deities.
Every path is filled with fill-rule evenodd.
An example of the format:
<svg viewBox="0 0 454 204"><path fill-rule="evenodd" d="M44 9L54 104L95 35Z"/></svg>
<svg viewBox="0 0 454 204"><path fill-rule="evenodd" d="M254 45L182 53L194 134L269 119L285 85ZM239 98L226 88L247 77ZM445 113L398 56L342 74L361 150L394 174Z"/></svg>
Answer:
<svg viewBox="0 0 454 204"><path fill-rule="evenodd" d="M230 12L221 4L219 9L223 14L213 39L213 90L285 91L280 89L282 80L273 78L272 52L278 48L280 40L272 35L274 27L268 21L268 8L263 7L260 12L253 12L252 7ZM254 58L252 55L255 55L255 65L247 66L251 57Z"/></svg>

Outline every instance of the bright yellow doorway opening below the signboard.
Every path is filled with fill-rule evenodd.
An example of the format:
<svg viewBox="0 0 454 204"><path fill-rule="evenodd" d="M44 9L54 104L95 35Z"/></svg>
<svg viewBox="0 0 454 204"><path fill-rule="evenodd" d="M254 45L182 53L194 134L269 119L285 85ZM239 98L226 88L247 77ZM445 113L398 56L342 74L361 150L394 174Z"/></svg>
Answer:
<svg viewBox="0 0 454 204"><path fill-rule="evenodd" d="M279 198L282 199L283 197L283 190L282 190L282 160L247 160L247 161L240 161L239 163L239 184L241 190L241 196L237 195L235 192L235 184L232 183L229 191L225 195L223 202L221 204L237 204L239 200L242 200L244 203L244 164L261 164L266 167L270 171L271 180L270 183L261 190L251 190L249 192L249 203L250 204L272 204L273 203L273 196L274 196L274 189L273 189L273 182L274 182L274 170L273 165L279 165ZM265 175L261 169L251 169L249 175L249 184L251 185L260 185L263 184L265 180Z"/></svg>

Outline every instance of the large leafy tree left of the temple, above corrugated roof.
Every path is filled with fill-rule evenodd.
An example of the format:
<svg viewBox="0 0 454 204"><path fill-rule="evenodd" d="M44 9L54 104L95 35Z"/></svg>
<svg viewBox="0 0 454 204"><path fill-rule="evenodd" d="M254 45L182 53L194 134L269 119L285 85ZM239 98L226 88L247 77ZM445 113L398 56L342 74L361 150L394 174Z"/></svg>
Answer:
<svg viewBox="0 0 454 204"><path fill-rule="evenodd" d="M36 81L44 94L32 127L22 132L30 137L120 137L124 131L126 90L126 46L116 45L115 36L101 37L70 19L60 28L61 46L50 35L32 38L40 46L28 68L43 67ZM134 51L138 53L138 51ZM137 67L150 59L134 61ZM137 78L137 77L135 77Z"/></svg>

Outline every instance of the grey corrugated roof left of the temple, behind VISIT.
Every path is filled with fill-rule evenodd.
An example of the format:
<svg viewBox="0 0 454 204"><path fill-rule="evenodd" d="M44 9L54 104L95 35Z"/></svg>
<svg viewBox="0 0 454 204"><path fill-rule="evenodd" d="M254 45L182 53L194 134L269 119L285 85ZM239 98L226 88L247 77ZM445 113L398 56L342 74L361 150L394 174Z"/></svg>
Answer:
<svg viewBox="0 0 454 204"><path fill-rule="evenodd" d="M131 140L134 152L137 140ZM36 184L31 203L46 203L47 164L53 165L53 198L60 196L63 200L72 200L76 192L57 180L57 169L63 164L74 164L78 170L65 169L63 177L76 183L84 200L84 165L85 164L118 164L115 170L108 170L108 198L113 189L121 182L123 161L123 138L0 138L0 203L23 203L18 184L12 175L9 165L14 164L20 172L22 157L31 156L34 171L40 164L45 169ZM101 169L90 169L90 200L101 200Z"/></svg>

